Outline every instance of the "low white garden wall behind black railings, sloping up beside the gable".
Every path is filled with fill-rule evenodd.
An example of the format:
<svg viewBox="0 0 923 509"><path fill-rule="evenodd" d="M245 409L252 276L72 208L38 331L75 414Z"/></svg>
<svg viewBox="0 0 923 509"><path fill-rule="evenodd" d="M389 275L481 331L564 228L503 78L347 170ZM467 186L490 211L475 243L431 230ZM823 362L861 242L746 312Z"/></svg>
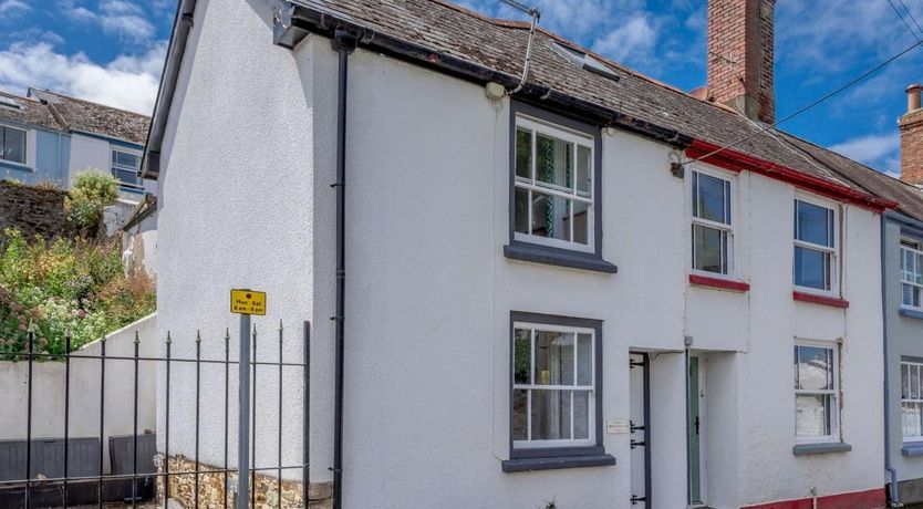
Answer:
<svg viewBox="0 0 923 509"><path fill-rule="evenodd" d="M157 354L157 315L152 314L106 336L106 356L133 356L135 333L141 340L139 356ZM101 342L85 345L74 355L100 356ZM100 382L98 359L71 360L71 438L98 438ZM0 362L0 439L24 440L29 395L27 362ZM134 361L108 360L105 366L105 440L103 453L108 469L108 437L134 433ZM64 437L63 362L34 362L32 372L32 437ZM154 364L138 364L138 433L156 428L156 370ZM106 470L108 471L108 470Z"/></svg>

